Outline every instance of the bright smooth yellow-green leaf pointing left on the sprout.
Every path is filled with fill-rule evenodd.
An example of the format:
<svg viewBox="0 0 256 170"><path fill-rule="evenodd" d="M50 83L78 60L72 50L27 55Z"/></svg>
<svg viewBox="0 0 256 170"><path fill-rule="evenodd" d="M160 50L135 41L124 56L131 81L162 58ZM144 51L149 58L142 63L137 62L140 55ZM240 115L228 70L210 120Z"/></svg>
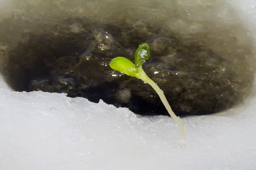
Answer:
<svg viewBox="0 0 256 170"><path fill-rule="evenodd" d="M127 74L128 76L138 77L134 63L125 57L116 57L111 60L109 65L113 70Z"/></svg>

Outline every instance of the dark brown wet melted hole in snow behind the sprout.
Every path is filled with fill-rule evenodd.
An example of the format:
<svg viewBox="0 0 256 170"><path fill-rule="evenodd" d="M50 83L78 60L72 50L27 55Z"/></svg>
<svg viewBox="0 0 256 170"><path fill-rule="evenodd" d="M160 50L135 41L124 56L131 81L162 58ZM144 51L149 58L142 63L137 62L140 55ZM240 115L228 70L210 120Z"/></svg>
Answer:
<svg viewBox="0 0 256 170"><path fill-rule="evenodd" d="M243 101L254 71L244 28L181 18L166 20L165 26L158 22L9 18L0 23L2 72L16 91L66 93L143 115L168 115L148 84L108 67L117 56L134 60L137 47L147 42L151 57L143 68L178 115L215 113Z"/></svg>

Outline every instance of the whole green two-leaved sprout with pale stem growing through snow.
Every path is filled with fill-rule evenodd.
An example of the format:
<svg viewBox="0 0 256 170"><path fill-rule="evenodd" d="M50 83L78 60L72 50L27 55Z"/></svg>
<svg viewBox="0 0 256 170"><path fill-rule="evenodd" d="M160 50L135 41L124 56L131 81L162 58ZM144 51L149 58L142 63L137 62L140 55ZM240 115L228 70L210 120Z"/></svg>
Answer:
<svg viewBox="0 0 256 170"><path fill-rule="evenodd" d="M169 105L165 95L163 94L163 91L143 71L142 65L149 57L149 45L147 43L143 43L135 52L135 64L125 57L116 57L111 60L110 67L113 70L127 74L128 76L142 79L144 82L147 82L149 85L151 85L152 88L154 88L154 90L157 92L158 96L160 97L161 101L163 102L163 105L166 107L166 110L168 111L172 119L174 119L177 125L179 126L181 133L180 139L184 140L185 130L183 128L180 117L177 117L175 113L172 111L172 108Z"/></svg>

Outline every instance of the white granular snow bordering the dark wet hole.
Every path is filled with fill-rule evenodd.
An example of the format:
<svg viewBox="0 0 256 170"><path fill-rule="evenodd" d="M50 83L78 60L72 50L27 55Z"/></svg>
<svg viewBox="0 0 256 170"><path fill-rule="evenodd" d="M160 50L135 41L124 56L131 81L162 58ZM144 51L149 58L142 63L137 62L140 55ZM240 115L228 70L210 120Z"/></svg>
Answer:
<svg viewBox="0 0 256 170"><path fill-rule="evenodd" d="M256 2L234 2L253 36ZM253 95L225 113L186 117L186 142L179 142L167 116L141 118L64 94L17 93L0 78L0 170L255 170L255 111Z"/></svg>

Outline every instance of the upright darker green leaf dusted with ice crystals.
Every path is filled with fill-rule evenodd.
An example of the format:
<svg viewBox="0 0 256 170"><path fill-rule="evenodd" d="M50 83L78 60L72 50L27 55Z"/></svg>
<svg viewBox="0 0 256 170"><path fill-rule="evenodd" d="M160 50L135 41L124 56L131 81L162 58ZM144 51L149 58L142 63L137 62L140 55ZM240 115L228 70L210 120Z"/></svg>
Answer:
<svg viewBox="0 0 256 170"><path fill-rule="evenodd" d="M145 62L149 57L149 45L147 43L143 43L135 52L135 68L140 69L143 62Z"/></svg>

